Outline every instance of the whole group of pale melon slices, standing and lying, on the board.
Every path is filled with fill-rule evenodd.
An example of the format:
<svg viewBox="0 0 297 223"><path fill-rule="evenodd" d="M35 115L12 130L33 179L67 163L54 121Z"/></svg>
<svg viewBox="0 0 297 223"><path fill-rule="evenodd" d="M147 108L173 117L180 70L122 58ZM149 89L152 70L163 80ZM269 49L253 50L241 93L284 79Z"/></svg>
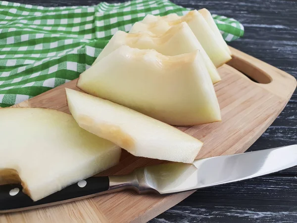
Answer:
<svg viewBox="0 0 297 223"><path fill-rule="evenodd" d="M135 156L192 163L202 143L171 125L221 120L213 84L231 59L206 9L147 15L118 31L77 87L71 114L0 110L0 184L20 182L33 200ZM46 177L45 177L46 176Z"/></svg>

